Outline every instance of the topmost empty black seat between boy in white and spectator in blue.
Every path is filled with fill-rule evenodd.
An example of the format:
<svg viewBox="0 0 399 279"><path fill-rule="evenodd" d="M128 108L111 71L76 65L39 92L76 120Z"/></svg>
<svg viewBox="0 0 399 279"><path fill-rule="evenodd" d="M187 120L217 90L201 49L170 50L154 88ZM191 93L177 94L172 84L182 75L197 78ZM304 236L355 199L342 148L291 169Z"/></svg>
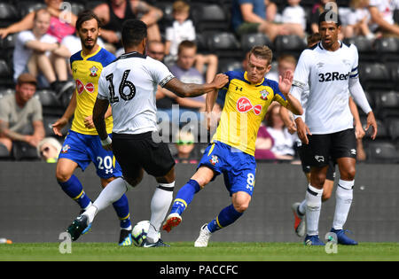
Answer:
<svg viewBox="0 0 399 279"><path fill-rule="evenodd" d="M228 31L230 20L219 4L192 4L192 21L198 32Z"/></svg>

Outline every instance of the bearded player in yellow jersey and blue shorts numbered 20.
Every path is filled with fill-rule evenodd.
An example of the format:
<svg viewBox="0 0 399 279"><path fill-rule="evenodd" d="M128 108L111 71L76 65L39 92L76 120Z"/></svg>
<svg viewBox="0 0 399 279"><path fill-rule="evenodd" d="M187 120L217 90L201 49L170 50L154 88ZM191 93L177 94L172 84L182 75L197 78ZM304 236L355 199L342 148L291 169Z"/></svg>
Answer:
<svg viewBox="0 0 399 279"><path fill-rule="evenodd" d="M112 53L101 48L97 43L100 35L100 21L90 11L82 12L76 21L76 30L82 41L82 50L76 52L71 58L72 73L76 89L64 115L53 125L54 133L62 136L61 129L74 115L72 128L69 130L57 163L57 181L66 195L76 201L86 210L91 205L90 198L85 194L81 182L74 175L74 170L82 170L93 162L97 174L104 188L116 177L121 177L121 167L115 161L112 151L102 148L101 140L92 121L94 103L98 95L98 79L102 69L113 62ZM106 113L106 130L112 133L113 118L111 107ZM120 245L131 245L131 222L129 217L128 198L123 195L113 203L120 221ZM86 233L88 229L83 231Z"/></svg>

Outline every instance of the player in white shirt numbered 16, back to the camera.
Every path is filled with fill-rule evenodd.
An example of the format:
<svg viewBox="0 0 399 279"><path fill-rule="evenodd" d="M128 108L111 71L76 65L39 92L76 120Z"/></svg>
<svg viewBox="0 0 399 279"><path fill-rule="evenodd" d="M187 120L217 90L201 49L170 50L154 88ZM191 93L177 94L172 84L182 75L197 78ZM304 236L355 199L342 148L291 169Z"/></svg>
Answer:
<svg viewBox="0 0 399 279"><path fill-rule="evenodd" d="M145 55L147 27L137 19L126 20L122 28L125 53L103 69L98 81L98 97L93 121L106 150L113 150L121 165L123 177L108 184L96 201L78 216L67 231L76 239L96 214L143 178L144 171L155 177L159 186L151 201L150 229L144 247L168 246L160 239L160 225L168 213L175 186L175 160L166 143L153 140L157 131L155 93L157 85L179 97L196 97L222 88L229 80L217 74L206 84L178 81L167 66ZM108 105L113 109L113 139L106 134L104 115Z"/></svg>

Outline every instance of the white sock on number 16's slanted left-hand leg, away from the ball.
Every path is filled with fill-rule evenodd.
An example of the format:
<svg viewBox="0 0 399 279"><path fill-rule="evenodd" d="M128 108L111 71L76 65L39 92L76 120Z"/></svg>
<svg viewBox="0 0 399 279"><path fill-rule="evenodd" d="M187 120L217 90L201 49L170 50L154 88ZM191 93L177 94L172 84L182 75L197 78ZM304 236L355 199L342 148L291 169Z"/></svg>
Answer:
<svg viewBox="0 0 399 279"><path fill-rule="evenodd" d="M128 182L121 177L114 179L106 185L98 198L94 201L83 214L89 217L89 223L94 220L94 217L101 210L106 209L109 205L112 205L115 201L121 198L121 196L129 190L130 187Z"/></svg>

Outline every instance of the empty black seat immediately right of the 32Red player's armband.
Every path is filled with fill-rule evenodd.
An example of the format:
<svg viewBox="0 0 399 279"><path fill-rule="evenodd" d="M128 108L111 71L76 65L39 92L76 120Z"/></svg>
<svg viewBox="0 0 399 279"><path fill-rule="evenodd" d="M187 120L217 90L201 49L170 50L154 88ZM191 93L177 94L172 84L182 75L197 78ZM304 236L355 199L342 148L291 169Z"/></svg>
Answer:
<svg viewBox="0 0 399 279"><path fill-rule="evenodd" d="M366 90L370 89L392 89L394 81L385 64L362 63L359 64L360 81Z"/></svg>

